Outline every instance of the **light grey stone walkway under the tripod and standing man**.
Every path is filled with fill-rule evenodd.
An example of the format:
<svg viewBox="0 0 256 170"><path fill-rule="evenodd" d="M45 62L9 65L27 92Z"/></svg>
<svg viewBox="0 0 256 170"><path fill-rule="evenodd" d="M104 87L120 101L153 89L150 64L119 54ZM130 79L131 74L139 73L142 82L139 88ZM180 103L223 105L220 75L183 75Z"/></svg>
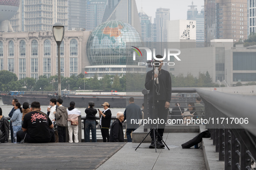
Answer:
<svg viewBox="0 0 256 170"><path fill-rule="evenodd" d="M199 133L164 133L170 151L149 149L149 143L127 143L97 170L205 170L202 148L182 149L181 144Z"/></svg>

